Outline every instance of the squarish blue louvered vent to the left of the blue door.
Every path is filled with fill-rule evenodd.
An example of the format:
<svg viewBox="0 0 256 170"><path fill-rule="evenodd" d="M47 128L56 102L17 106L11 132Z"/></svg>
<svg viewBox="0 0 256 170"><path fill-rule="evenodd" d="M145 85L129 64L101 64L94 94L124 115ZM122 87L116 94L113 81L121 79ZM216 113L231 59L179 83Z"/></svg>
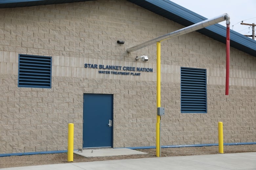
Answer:
<svg viewBox="0 0 256 170"><path fill-rule="evenodd" d="M18 87L51 88L52 57L19 54Z"/></svg>

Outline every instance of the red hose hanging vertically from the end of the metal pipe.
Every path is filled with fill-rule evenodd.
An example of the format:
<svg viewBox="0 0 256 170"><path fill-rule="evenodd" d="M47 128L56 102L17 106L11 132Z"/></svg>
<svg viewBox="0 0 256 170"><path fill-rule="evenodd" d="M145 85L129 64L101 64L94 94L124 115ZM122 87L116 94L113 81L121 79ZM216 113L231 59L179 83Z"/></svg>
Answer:
<svg viewBox="0 0 256 170"><path fill-rule="evenodd" d="M226 92L225 95L228 95L229 89L229 52L230 52L230 36L229 36L229 27L230 23L227 23L227 33L226 33Z"/></svg>

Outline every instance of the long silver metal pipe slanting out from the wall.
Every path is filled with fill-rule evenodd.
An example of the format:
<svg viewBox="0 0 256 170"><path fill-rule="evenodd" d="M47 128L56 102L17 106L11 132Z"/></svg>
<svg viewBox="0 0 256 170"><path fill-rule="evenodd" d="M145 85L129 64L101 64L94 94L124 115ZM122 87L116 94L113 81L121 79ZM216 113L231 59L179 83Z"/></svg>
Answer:
<svg viewBox="0 0 256 170"><path fill-rule="evenodd" d="M194 24L194 25L190 25L190 26L187 26L185 28L182 28L182 29L179 29L177 31L174 31L174 32L171 32L171 33L168 33L168 34L165 34L163 36L160 36L158 38L155 38L155 39L152 39L152 40L149 40L147 42L143 42L139 45L136 45L136 46L133 46L133 47L130 47L127 49L127 52L128 53L131 53L133 51L136 51L136 50L139 50L141 48L144 48L146 46L149 46L149 45L153 45L155 44L156 42L162 42L164 40L167 40L169 38L172 38L172 37L175 37L175 36L179 36L179 35L183 35L183 34L187 34L187 33L190 33L190 32L193 32L193 31L196 31L196 30L199 30L201 28L204 28L206 26L209 26L209 25L214 25L216 23L219 23L219 22L222 22L222 21L225 21L229 19L229 15L227 13L224 13L220 16L217 16L217 17L214 17L212 19L207 19L205 21L202 21L202 22L199 22L197 24Z"/></svg>

